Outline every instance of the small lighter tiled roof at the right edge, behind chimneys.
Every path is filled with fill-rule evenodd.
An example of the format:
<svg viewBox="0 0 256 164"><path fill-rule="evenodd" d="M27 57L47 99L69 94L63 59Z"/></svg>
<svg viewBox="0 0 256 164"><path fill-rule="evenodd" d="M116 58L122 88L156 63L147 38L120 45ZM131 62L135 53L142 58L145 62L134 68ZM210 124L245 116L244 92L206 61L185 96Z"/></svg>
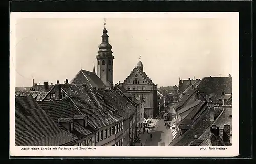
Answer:
<svg viewBox="0 0 256 164"><path fill-rule="evenodd" d="M230 125L230 134L232 134L232 108L224 108L222 114L215 120L213 125L224 129L224 124Z"/></svg>

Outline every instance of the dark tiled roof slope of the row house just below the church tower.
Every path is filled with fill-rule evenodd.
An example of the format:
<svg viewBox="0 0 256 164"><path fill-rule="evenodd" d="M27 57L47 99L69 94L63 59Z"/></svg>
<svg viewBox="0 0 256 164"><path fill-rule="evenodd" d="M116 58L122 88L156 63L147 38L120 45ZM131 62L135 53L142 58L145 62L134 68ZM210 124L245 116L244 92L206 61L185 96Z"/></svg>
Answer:
<svg viewBox="0 0 256 164"><path fill-rule="evenodd" d="M104 101L114 106L117 110L117 113L123 116L125 119L131 117L136 108L132 105L131 102L127 101L122 95L120 95L118 92L100 92L99 93L104 97Z"/></svg>

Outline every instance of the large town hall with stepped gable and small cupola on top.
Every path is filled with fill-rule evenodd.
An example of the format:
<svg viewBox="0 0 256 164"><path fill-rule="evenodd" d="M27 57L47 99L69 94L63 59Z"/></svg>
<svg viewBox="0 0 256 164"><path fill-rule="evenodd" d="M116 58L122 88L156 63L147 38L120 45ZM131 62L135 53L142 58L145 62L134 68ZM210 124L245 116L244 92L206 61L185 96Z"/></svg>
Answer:
<svg viewBox="0 0 256 164"><path fill-rule="evenodd" d="M144 99L145 117L153 118L156 116L158 112L157 85L143 72L141 61L121 85L135 98L141 96Z"/></svg>

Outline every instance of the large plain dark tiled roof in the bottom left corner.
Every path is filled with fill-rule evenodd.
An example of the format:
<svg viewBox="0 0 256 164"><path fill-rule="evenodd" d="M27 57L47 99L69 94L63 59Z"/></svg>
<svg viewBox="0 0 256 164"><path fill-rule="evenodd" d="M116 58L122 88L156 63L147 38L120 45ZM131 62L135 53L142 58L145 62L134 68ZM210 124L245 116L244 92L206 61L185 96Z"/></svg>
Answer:
<svg viewBox="0 0 256 164"><path fill-rule="evenodd" d="M32 96L15 98L15 144L60 146L77 137L59 128Z"/></svg>

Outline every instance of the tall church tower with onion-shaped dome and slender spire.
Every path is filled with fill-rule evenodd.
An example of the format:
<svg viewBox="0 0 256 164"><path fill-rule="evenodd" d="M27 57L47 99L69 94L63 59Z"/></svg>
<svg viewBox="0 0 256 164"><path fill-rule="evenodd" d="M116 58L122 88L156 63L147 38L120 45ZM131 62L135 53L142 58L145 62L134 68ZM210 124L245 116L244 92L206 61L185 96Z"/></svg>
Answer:
<svg viewBox="0 0 256 164"><path fill-rule="evenodd" d="M97 58L97 75L106 86L113 84L113 59L112 46L109 44L108 30L106 30L106 19L104 23L102 42L99 45Z"/></svg>

